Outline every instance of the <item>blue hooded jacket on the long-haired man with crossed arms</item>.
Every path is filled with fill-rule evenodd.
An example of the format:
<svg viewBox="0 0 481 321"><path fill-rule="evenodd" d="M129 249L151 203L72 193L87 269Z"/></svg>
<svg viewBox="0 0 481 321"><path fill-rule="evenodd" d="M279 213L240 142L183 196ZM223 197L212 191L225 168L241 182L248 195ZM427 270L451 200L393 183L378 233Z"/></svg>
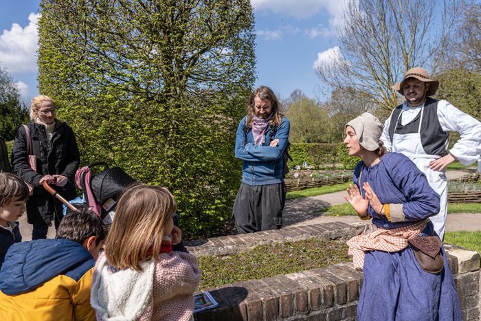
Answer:
<svg viewBox="0 0 481 321"><path fill-rule="evenodd" d="M282 170L284 169L284 150L287 148L291 124L287 118L282 118L276 131L271 137L271 127L265 132L264 144L254 144L254 136L249 129L247 142L245 142L245 123L247 116L240 120L236 133L236 158L242 159L242 181L249 185L279 184L284 181ZM276 147L269 146L271 140L279 139Z"/></svg>

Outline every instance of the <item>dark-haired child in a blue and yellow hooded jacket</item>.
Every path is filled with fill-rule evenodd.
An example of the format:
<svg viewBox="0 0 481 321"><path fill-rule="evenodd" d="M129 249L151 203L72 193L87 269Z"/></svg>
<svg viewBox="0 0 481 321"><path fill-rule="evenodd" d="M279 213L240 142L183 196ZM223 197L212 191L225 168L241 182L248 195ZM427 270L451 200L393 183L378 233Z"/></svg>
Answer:
<svg viewBox="0 0 481 321"><path fill-rule="evenodd" d="M0 320L95 320L92 269L106 237L100 217L80 208L56 239L12 245L0 271Z"/></svg>

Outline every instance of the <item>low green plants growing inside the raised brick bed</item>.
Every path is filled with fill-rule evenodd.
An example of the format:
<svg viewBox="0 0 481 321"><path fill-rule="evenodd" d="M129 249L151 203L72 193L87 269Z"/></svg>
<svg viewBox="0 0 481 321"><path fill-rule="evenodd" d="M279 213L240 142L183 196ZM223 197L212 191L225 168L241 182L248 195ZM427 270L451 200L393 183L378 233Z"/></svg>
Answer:
<svg viewBox="0 0 481 321"><path fill-rule="evenodd" d="M259 245L253 250L227 257L200 256L202 283L199 288L219 287L349 262L351 259L347 252L348 247L344 242L309 239Z"/></svg>

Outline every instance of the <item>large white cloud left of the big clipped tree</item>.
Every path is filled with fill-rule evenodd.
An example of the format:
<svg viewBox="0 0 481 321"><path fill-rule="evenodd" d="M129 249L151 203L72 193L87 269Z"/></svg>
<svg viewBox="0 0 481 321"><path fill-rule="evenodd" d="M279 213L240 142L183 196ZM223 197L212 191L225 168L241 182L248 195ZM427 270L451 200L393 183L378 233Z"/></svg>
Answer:
<svg viewBox="0 0 481 321"><path fill-rule="evenodd" d="M36 51L38 49L38 19L40 14L29 14L30 23L21 27L12 23L10 30L0 35L0 64L12 74L36 71Z"/></svg>

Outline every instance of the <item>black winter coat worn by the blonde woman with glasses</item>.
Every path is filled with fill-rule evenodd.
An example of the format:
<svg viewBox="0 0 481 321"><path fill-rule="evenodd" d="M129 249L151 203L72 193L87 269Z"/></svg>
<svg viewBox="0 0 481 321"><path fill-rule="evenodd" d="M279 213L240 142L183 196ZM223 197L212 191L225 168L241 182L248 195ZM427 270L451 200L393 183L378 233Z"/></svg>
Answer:
<svg viewBox="0 0 481 321"><path fill-rule="evenodd" d="M74 199L75 173L80 164L80 153L71 127L55 120L55 129L52 139L47 143L45 126L30 121L27 126L30 129L33 155L36 155L36 172L30 168L27 156L27 142L23 126L16 131L12 151L12 167L14 173L21 179L34 186L34 195L27 201L27 217L29 223L35 223L37 214L40 214L45 223L52 219L48 217L55 207L61 208L61 204L40 185L40 179L45 175L64 175L69 179L65 186L52 187L67 200ZM38 208L38 212L34 208Z"/></svg>

